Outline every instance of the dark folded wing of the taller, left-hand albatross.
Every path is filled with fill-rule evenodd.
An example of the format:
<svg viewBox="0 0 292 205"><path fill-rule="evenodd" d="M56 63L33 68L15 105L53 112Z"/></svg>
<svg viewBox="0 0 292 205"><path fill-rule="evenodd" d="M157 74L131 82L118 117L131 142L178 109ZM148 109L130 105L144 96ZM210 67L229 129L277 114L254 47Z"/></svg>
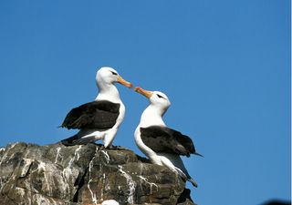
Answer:
<svg viewBox="0 0 292 205"><path fill-rule="evenodd" d="M62 128L112 128L120 115L120 104L107 100L93 101L68 112Z"/></svg>

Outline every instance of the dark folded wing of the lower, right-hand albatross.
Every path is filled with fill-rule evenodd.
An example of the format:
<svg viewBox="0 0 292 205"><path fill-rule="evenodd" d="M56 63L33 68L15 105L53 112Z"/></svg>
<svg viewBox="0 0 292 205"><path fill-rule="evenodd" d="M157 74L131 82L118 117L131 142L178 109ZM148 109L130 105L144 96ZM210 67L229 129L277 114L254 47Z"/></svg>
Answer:
<svg viewBox="0 0 292 205"><path fill-rule="evenodd" d="M172 128L151 126L140 128L143 143L155 152L165 152L190 157L195 152L193 141Z"/></svg>

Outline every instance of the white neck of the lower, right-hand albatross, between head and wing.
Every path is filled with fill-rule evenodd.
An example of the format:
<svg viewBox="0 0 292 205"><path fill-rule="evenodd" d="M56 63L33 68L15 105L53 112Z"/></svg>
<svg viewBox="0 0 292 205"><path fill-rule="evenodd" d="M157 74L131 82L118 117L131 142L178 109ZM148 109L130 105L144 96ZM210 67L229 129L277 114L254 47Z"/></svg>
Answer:
<svg viewBox="0 0 292 205"><path fill-rule="evenodd" d="M164 110L161 108L149 105L142 113L140 127L147 128L149 126L166 126L162 117Z"/></svg>

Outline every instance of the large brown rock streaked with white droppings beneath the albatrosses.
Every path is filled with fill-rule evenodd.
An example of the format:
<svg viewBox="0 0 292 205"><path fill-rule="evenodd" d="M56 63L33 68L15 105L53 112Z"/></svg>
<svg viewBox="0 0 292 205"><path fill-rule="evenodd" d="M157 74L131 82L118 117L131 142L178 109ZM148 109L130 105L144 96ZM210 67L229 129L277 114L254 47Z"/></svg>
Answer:
<svg viewBox="0 0 292 205"><path fill-rule="evenodd" d="M191 205L190 190L171 170L128 149L18 142L0 149L1 204Z"/></svg>

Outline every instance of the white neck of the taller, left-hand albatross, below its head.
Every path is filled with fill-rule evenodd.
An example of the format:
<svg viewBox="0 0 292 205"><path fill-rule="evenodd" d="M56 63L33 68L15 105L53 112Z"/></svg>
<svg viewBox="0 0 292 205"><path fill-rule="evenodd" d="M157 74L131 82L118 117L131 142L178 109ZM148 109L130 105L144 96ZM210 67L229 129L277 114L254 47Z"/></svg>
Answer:
<svg viewBox="0 0 292 205"><path fill-rule="evenodd" d="M99 82L99 95L95 98L95 100L109 100L113 103L120 103L120 93L113 84L106 84Z"/></svg>

